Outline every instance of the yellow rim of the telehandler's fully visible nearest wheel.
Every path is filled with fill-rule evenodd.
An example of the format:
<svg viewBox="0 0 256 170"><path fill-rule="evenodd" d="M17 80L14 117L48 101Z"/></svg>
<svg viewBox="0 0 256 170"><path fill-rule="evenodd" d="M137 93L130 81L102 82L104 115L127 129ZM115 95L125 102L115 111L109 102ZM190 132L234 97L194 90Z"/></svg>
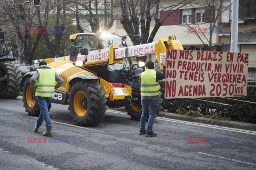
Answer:
<svg viewBox="0 0 256 170"><path fill-rule="evenodd" d="M83 91L78 91L74 97L74 108L78 116L84 116L87 112L87 99Z"/></svg>

